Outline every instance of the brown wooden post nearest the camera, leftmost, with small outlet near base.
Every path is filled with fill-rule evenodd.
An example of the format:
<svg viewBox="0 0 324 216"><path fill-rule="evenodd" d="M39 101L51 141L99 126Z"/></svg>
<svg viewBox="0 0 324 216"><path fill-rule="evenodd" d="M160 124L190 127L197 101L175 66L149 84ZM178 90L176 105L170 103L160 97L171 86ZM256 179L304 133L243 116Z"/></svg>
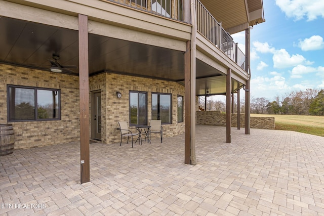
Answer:
<svg viewBox="0 0 324 216"><path fill-rule="evenodd" d="M79 14L80 176L90 182L88 16Z"/></svg>

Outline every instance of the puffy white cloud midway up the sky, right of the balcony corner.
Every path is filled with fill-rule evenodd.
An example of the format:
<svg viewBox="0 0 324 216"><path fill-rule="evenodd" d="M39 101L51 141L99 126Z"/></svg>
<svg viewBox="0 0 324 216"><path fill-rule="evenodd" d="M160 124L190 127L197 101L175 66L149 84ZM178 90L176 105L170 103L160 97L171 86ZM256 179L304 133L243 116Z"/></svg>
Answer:
<svg viewBox="0 0 324 216"><path fill-rule="evenodd" d="M310 65L312 62L307 61L302 55L290 55L285 49L276 50L272 57L274 68L294 67L299 64Z"/></svg>

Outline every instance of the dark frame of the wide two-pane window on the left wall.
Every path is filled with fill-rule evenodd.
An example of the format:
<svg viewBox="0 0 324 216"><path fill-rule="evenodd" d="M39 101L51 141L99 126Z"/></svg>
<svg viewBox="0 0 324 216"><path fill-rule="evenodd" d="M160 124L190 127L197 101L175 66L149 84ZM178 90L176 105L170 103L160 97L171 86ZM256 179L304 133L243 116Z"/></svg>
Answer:
<svg viewBox="0 0 324 216"><path fill-rule="evenodd" d="M34 90L34 119L23 119L23 120L13 120L10 118L10 88L18 89L31 89ZM58 118L38 118L38 108L37 108L37 90L45 91L57 91L58 92ZM23 121L59 121L61 120L61 90L60 89L50 89L50 88L41 88L41 87L30 87L25 85L12 85L7 84L7 121L8 122L23 122Z"/></svg>

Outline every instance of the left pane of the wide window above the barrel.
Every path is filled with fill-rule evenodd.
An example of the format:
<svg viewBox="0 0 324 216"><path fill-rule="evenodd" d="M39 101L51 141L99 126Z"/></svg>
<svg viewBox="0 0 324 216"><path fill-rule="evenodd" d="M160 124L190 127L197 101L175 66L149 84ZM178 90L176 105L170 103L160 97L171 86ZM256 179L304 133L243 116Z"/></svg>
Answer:
<svg viewBox="0 0 324 216"><path fill-rule="evenodd" d="M9 88L9 120L35 119L35 91Z"/></svg>

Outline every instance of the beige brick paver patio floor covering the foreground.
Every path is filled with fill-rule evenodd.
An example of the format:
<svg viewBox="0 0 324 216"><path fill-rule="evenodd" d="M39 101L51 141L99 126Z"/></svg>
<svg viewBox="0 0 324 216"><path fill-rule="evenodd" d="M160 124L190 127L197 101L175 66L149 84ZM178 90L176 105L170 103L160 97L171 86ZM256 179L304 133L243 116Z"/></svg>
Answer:
<svg viewBox="0 0 324 216"><path fill-rule="evenodd" d="M197 165L184 135L152 144L79 143L0 157L0 215L324 215L324 137L196 126Z"/></svg>

